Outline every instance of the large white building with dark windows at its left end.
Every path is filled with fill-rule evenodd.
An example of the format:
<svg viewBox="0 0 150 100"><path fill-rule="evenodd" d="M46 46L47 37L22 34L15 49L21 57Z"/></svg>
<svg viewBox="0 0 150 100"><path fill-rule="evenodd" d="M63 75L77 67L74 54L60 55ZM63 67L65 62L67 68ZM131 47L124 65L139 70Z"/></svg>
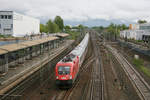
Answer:
<svg viewBox="0 0 150 100"><path fill-rule="evenodd" d="M14 11L0 11L0 34L20 37L39 32L40 21L38 19Z"/></svg>

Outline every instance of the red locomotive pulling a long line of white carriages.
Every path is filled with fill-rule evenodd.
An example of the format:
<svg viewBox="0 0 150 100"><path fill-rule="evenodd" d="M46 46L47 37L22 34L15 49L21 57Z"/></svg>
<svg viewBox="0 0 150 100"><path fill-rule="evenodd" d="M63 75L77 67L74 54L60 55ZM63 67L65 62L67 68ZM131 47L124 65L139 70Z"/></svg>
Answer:
<svg viewBox="0 0 150 100"><path fill-rule="evenodd" d="M68 55L61 59L55 67L56 85L72 86L88 50L89 33Z"/></svg>

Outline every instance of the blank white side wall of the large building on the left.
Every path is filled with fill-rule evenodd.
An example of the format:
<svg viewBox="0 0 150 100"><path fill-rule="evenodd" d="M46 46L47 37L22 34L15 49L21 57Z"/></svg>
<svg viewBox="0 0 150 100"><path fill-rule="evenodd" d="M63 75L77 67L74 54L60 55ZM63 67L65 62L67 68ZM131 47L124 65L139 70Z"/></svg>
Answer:
<svg viewBox="0 0 150 100"><path fill-rule="evenodd" d="M14 36L38 34L40 32L40 21L14 12L13 28Z"/></svg>

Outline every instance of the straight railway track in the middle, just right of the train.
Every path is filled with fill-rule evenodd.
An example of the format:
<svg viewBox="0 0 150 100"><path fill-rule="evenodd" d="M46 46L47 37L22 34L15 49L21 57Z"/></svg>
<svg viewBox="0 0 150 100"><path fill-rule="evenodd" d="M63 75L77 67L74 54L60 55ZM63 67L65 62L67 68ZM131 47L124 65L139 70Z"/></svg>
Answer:
<svg viewBox="0 0 150 100"><path fill-rule="evenodd" d="M95 63L92 70L90 100L104 100L104 70L100 58L99 38L96 33L91 35L91 40L93 43Z"/></svg>

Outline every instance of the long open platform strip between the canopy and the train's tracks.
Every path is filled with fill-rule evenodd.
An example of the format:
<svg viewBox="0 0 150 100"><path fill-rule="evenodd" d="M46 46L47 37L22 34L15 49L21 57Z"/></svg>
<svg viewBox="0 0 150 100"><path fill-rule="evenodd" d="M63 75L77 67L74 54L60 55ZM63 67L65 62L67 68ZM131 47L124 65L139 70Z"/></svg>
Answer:
<svg viewBox="0 0 150 100"><path fill-rule="evenodd" d="M50 52L38 55L37 57L32 58L32 60L26 60L23 64L16 66L15 69L9 69L9 72L6 75L0 77L0 94L4 94L32 73L43 67L62 51L66 50L73 42L73 40L67 40L60 44L58 48L55 48Z"/></svg>

